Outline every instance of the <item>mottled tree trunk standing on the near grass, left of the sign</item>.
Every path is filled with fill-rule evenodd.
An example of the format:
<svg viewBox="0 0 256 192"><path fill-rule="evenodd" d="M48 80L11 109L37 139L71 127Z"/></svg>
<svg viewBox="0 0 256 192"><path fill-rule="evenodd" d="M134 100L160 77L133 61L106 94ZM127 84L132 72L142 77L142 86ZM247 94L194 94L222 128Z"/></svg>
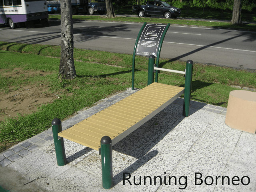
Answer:
<svg viewBox="0 0 256 192"><path fill-rule="evenodd" d="M60 1L60 66L59 77L62 79L74 79L76 69L74 65L74 36L72 22L71 0Z"/></svg>

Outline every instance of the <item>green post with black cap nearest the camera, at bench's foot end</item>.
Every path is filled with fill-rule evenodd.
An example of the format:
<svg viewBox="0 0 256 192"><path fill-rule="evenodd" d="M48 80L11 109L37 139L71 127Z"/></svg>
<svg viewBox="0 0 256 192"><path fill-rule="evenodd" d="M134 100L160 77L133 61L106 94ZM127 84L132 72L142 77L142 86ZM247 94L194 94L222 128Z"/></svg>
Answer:
<svg viewBox="0 0 256 192"><path fill-rule="evenodd" d="M100 140L102 186L110 189L113 186L112 170L112 140L109 136L104 136Z"/></svg>

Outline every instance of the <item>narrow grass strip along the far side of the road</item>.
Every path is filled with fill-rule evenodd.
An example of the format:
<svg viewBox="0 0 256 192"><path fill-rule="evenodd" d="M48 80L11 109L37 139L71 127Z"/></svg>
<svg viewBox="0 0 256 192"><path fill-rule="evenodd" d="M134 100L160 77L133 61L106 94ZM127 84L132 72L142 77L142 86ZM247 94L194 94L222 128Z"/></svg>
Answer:
<svg viewBox="0 0 256 192"><path fill-rule="evenodd" d="M188 26L206 26L212 28L232 28L237 30L250 30L255 31L256 25L254 24L243 24L243 25L232 25L226 22L208 22L208 21L196 21L196 20L182 20L182 19L166 19L166 18L154 18L154 17L116 17L116 18L105 18L101 15L73 15L73 20L98 20L98 21L112 21L112 22L147 22L147 23L162 23L162 24L177 24L177 25L188 25ZM49 19L60 20L60 15L49 15ZM211 18L214 19L214 18Z"/></svg>

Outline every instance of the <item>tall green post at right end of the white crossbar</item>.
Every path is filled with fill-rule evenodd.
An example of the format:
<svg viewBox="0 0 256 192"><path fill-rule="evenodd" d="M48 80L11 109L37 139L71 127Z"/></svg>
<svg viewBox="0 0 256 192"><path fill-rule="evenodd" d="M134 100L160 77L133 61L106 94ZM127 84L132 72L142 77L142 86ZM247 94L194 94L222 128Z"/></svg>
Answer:
<svg viewBox="0 0 256 192"><path fill-rule="evenodd" d="M192 84L192 72L193 72L193 61L188 60L186 64L185 74L185 88L184 88L184 103L183 103L183 116L189 116L189 105L191 96L191 84Z"/></svg>

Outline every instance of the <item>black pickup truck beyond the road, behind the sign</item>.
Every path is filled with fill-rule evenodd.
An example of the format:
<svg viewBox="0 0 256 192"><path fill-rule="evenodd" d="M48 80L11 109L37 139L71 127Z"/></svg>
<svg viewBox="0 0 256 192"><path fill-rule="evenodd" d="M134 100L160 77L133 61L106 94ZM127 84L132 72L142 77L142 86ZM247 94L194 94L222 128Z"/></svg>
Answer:
<svg viewBox="0 0 256 192"><path fill-rule="evenodd" d="M180 16L180 9L170 6L164 1L151 0L146 5L134 5L132 11L136 12L139 17L150 17L151 15L161 15L165 18L176 19Z"/></svg>

